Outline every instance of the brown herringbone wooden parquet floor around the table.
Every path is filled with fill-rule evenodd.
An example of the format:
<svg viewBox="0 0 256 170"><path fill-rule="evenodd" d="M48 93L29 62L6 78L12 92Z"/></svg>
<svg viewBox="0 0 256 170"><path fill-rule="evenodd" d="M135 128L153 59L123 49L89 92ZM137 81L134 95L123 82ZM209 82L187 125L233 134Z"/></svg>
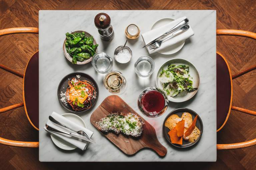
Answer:
<svg viewBox="0 0 256 170"><path fill-rule="evenodd" d="M38 27L38 10L178 10L217 11L217 29L256 32L255 0L0 0L0 29ZM38 50L38 35L16 34L0 37L0 63L23 73L30 56ZM256 41L241 37L217 38L217 50L226 56L232 73L256 64ZM0 69L0 108L22 102L22 78ZM233 80L233 105L256 110L256 70ZM28 122L24 108L0 114L0 136L22 141L37 141L38 131ZM236 111L218 132L218 143L235 143L256 137L256 117ZM218 151L213 163L131 163L131 168L256 169L256 146ZM38 149L0 145L0 169L104 169L122 168L124 163L43 163ZM111 169L112 169L111 168Z"/></svg>

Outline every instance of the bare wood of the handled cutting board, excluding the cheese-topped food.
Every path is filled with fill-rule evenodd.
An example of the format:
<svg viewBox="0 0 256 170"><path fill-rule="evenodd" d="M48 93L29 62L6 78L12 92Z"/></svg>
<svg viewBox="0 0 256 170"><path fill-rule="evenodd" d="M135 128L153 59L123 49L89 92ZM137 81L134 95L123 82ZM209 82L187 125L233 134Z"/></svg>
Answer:
<svg viewBox="0 0 256 170"><path fill-rule="evenodd" d="M115 112L123 114L134 113L137 114L127 103L125 103L119 96L108 96L100 106L92 113L90 122L96 127L96 121L107 115ZM167 149L158 141L156 131L152 125L145 121L139 114L137 114L143 121L143 133L140 137L127 137L123 134L115 134L113 132L102 133L119 149L128 155L135 154L142 148L151 148L160 156L165 156ZM99 128L98 128L99 129Z"/></svg>

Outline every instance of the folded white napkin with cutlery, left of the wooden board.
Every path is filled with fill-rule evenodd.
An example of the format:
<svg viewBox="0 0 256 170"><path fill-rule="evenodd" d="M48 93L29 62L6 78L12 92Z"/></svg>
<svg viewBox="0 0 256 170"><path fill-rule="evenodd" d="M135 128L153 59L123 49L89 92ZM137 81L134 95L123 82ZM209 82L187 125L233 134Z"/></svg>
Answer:
<svg viewBox="0 0 256 170"><path fill-rule="evenodd" d="M89 142L95 143L95 141L91 139L93 134L91 130L75 124L56 112L53 112L49 116L49 120L45 124L44 129L81 150L85 150Z"/></svg>

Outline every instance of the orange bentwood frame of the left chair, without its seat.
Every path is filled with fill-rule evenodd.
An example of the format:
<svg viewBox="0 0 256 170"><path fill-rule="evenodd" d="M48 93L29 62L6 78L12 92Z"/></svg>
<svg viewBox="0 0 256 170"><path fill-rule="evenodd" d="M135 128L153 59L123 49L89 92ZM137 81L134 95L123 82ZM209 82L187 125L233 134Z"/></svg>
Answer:
<svg viewBox="0 0 256 170"><path fill-rule="evenodd" d="M17 34L17 33L34 33L34 34L38 34L38 28L34 28L34 27L8 28L8 29L0 30L0 37L4 36L4 35ZM22 92L23 92L23 101L24 101L25 100L25 97L24 97L24 78L25 78L25 75L19 73L16 70L13 70L13 69L5 66L3 64L0 64L0 68L2 68L3 70L8 71L8 72L10 72L10 73L12 73L14 75L17 75L17 76L23 78L23 91ZM26 68L27 68L27 66L26 66ZM11 106L7 106L5 108L1 108L0 109L0 113L6 112L6 111L9 111L9 110L18 108L18 107L22 107L22 106L24 106L24 103L18 103L18 104L14 104L14 105L11 105ZM30 124L35 129L38 130L38 128L36 128L34 126L34 124L30 121L30 118L28 116L26 108L25 108L25 112L26 112L26 115L27 115L27 118L28 118ZM1 144L5 144L5 145L9 145L9 146L18 146L18 147L38 147L39 146L39 142L16 141L16 140L5 139L5 138L2 138L2 137L0 137L0 143Z"/></svg>

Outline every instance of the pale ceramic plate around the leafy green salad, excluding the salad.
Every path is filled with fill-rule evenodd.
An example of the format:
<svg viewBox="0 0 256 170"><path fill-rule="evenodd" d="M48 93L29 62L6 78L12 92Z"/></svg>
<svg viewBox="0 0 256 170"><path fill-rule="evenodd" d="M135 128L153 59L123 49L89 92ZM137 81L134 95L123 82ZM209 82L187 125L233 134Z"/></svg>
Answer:
<svg viewBox="0 0 256 170"><path fill-rule="evenodd" d="M158 88L163 89L163 85L162 85L162 83L161 83L160 80L159 80L159 76L160 76L160 73L161 73L162 69L165 69L165 70L166 70L169 64L174 64L174 65L187 65L187 66L189 66L189 74L190 74L191 77L193 78L193 79L192 79L192 81L193 81L193 88L198 88L197 90L195 90L195 91L193 91L193 92L187 93L187 95L185 95L185 96L183 96L183 97L180 97L180 96L174 96L174 97L168 96L169 101L179 103L179 102L185 102L185 101L191 99L191 98L197 93L197 91L199 90L199 82L200 82L200 79L199 79L199 74L198 74L198 72L197 72L195 66L194 66L191 62L189 62L189 61L187 61L187 60L185 60L185 59L174 58L174 59L171 59L171 60L165 62L165 63L159 68L159 70L158 70L158 72L157 72L157 75L156 75L156 86L157 86Z"/></svg>

